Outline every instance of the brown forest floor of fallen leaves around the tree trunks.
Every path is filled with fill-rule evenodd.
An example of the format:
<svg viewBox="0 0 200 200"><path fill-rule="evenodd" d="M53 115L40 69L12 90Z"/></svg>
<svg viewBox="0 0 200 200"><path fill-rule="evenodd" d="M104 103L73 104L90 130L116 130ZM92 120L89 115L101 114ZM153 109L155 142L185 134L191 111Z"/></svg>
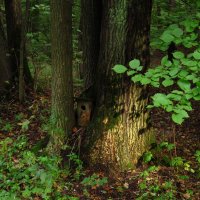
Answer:
<svg viewBox="0 0 200 200"><path fill-rule="evenodd" d="M115 178L104 171L85 168L80 181L71 180L70 191L63 191L63 194L83 200L134 200L142 195L146 197L141 199L200 199L200 171L194 156L195 152L200 150L200 104L194 103L193 108L190 118L181 126L175 126L170 115L164 111L152 110L152 125L157 132L157 143L168 143L165 143L166 148L161 152L155 152L149 163L140 162L134 171L118 174ZM30 146L35 144L46 135L43 125L47 123L49 111L49 92L30 92L23 105L19 104L14 96L9 100L2 100L0 141L6 137L15 139L24 134L29 138ZM21 119L26 120L21 122ZM176 148L167 150L171 143L175 144ZM174 163L179 164L172 167L164 158L174 159ZM93 181L96 183L84 185L81 182L84 177L91 177L94 173L98 177L98 180ZM107 183L98 182L104 177L108 178ZM170 197L171 193L174 198Z"/></svg>

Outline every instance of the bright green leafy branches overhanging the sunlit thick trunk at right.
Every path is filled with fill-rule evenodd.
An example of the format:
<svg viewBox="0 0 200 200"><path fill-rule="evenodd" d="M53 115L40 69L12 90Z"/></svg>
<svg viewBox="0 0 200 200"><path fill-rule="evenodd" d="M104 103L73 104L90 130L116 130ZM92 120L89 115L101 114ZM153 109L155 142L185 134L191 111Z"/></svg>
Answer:
<svg viewBox="0 0 200 200"><path fill-rule="evenodd" d="M189 28L190 27L190 28ZM158 47L167 50L169 44L184 45L186 48L197 46L199 22L183 21L180 24L172 24L161 35L157 41ZM189 34L189 36L187 36ZM187 42L186 42L187 39ZM154 69L141 72L143 67L140 61L134 59L129 62L129 67L115 65L113 70L117 73L125 73L131 80L141 85L153 87L175 86L170 93L157 93L152 96L152 104L148 108L159 107L171 113L171 118L176 124L182 124L189 117L188 112L192 110L191 100L200 100L200 50L196 47L192 53L185 55L181 51L173 53L173 62L164 56L161 65Z"/></svg>

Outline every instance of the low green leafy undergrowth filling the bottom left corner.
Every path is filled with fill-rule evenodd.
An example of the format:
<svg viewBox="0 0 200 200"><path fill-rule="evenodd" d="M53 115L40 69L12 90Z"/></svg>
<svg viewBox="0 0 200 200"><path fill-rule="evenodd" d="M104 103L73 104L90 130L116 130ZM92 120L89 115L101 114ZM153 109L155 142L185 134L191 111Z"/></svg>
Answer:
<svg viewBox="0 0 200 200"><path fill-rule="evenodd" d="M57 182L69 173L59 168L60 158L36 156L27 145L25 137L1 141L0 199L73 199L63 197L63 183L57 188Z"/></svg>

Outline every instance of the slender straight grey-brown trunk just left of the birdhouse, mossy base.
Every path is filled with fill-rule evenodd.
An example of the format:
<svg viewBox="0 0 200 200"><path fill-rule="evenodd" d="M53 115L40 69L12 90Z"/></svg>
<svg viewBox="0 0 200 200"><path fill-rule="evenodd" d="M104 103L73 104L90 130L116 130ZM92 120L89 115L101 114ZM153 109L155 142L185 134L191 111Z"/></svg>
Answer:
<svg viewBox="0 0 200 200"><path fill-rule="evenodd" d="M51 0L52 111L47 152L60 154L74 123L72 81L72 3Z"/></svg>

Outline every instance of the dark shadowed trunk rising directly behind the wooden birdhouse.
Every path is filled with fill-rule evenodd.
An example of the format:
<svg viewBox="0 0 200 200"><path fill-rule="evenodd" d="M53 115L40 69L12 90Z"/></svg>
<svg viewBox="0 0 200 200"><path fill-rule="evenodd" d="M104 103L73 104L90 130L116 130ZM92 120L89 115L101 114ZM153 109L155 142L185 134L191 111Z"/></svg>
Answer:
<svg viewBox="0 0 200 200"><path fill-rule="evenodd" d="M97 69L100 47L101 1L81 1L81 27L83 65L82 76L87 89L94 83L94 73Z"/></svg>

